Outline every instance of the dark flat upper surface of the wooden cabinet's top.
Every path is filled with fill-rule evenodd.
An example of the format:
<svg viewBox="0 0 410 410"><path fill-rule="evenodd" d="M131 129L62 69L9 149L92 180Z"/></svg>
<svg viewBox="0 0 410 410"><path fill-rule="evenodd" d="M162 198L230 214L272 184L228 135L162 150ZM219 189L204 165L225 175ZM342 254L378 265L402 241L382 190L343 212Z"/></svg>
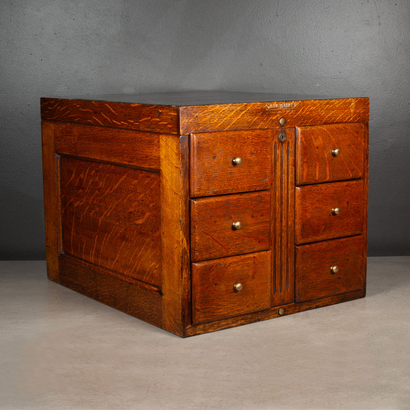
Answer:
<svg viewBox="0 0 410 410"><path fill-rule="evenodd" d="M48 97L47 97L48 98ZM259 93L240 91L170 91L136 94L105 94L50 97L56 99L106 101L108 103L145 104L170 107L208 106L218 104L270 103L276 101L304 101L321 99L348 99L335 97L285 93Z"/></svg>

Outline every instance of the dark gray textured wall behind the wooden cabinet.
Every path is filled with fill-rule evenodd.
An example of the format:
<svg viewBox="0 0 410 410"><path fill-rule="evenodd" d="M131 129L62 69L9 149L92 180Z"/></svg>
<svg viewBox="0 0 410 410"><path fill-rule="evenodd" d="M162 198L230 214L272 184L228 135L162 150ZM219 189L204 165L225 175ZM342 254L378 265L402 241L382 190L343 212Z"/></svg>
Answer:
<svg viewBox="0 0 410 410"><path fill-rule="evenodd" d="M0 258L45 258L40 96L368 96L368 254L410 255L408 0L0 1Z"/></svg>

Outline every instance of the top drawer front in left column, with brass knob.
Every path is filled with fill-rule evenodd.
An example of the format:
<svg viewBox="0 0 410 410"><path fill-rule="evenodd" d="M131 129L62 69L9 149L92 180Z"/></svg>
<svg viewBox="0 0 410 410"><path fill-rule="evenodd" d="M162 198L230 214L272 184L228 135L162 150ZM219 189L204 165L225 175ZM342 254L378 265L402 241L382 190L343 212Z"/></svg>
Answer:
<svg viewBox="0 0 410 410"><path fill-rule="evenodd" d="M270 130L191 134L191 196L269 189L271 139Z"/></svg>

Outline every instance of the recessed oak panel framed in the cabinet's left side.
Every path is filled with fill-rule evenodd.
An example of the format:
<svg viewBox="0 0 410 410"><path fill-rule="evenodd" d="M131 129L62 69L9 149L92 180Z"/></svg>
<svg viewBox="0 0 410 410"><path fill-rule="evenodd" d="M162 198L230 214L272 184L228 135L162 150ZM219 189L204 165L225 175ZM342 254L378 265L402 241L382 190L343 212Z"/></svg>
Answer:
<svg viewBox="0 0 410 410"><path fill-rule="evenodd" d="M64 252L161 285L159 175L61 158Z"/></svg>

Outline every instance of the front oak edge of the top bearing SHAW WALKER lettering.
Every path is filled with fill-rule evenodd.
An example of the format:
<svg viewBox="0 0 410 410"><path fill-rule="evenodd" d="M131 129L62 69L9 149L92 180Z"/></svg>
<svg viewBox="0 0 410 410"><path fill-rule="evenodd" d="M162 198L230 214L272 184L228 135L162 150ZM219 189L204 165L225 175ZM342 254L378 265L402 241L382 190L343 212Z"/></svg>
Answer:
<svg viewBox="0 0 410 410"><path fill-rule="evenodd" d="M181 134L286 127L345 122L368 122L368 98L271 101L180 107Z"/></svg>

